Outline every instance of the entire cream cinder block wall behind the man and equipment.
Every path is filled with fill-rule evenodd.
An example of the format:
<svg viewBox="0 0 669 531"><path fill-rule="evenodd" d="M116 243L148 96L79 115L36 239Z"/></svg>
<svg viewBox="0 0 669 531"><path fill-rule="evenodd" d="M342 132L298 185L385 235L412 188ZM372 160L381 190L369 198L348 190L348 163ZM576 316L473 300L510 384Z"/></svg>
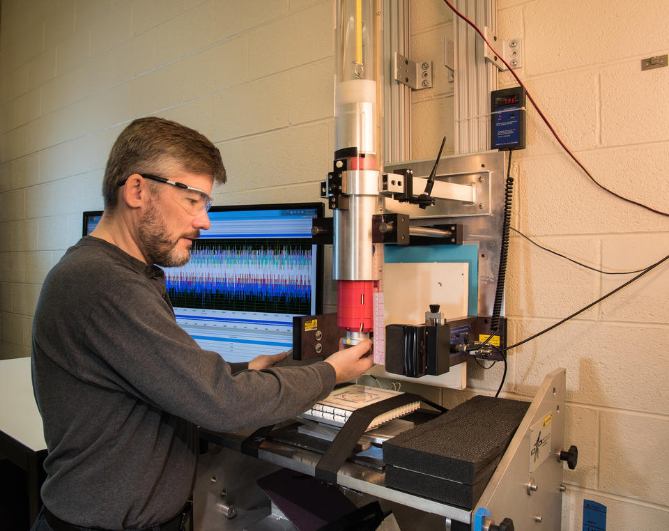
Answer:
<svg viewBox="0 0 669 531"><path fill-rule="evenodd" d="M499 34L523 38L521 75L597 178L668 210L669 68L640 72L640 59L669 51L658 23L669 6L642 4L498 0ZM107 153L132 118L165 116L216 142L229 171L216 203L316 199L334 149L332 10L330 0L2 1L0 358L29 355L40 284L79 237L82 211L102 208ZM447 24L420 13L421 35ZM425 93L414 109L447 98ZM431 137L443 117L423 114ZM513 226L594 267L637 269L666 253L669 222L592 185L533 111L528 146L514 154ZM516 236L510 254L512 339L628 278L581 270ZM659 268L509 356L509 397L529 399L548 371L567 367L567 440L580 465L566 475L564 530L580 528L583 498L608 506L610 530L666 521L668 288ZM489 393L500 377L499 364L472 367L469 384Z"/></svg>

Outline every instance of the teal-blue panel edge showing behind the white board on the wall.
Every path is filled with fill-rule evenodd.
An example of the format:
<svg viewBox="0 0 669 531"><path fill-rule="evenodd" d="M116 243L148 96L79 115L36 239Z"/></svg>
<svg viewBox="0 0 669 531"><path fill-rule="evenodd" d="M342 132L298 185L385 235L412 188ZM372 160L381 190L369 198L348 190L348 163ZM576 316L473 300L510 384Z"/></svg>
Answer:
<svg viewBox="0 0 669 531"><path fill-rule="evenodd" d="M479 246L416 245L415 247L386 245L383 249L387 263L456 262L469 265L468 314L479 314Z"/></svg>

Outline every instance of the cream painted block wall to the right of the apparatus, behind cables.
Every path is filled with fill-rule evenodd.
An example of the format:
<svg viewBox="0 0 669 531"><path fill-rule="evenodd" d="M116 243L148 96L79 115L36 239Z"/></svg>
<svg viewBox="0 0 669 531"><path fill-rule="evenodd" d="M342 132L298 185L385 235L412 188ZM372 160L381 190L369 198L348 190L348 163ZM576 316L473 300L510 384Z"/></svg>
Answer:
<svg viewBox="0 0 669 531"><path fill-rule="evenodd" d="M604 186L665 212L669 68L642 72L640 63L669 52L658 24L668 17L662 1L498 0L498 36L523 39L518 75L565 143ZM500 88L507 86L514 86L508 72L500 75ZM527 123L528 148L512 157L513 227L608 271L638 270L669 254L666 217L594 185L534 109ZM513 235L506 290L511 341L631 277L580 268ZM584 499L608 507L607 530L666 528L669 465L659 456L669 448L667 332L669 266L661 265L509 352L502 396L529 398L548 371L567 368L565 443L578 445L579 465L565 472L562 529L582 528ZM501 369L472 367L472 389L494 392Z"/></svg>

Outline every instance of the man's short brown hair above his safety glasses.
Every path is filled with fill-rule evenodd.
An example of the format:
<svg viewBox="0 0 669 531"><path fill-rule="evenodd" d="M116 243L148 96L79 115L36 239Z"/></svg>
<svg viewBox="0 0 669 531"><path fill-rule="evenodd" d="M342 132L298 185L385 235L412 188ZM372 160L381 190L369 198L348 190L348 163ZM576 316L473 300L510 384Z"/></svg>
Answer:
<svg viewBox="0 0 669 531"><path fill-rule="evenodd" d="M166 164L213 176L215 183L226 180L221 153L203 134L164 118L138 118L118 135L109 153L102 181L105 210L117 206L118 183L132 174L155 174Z"/></svg>

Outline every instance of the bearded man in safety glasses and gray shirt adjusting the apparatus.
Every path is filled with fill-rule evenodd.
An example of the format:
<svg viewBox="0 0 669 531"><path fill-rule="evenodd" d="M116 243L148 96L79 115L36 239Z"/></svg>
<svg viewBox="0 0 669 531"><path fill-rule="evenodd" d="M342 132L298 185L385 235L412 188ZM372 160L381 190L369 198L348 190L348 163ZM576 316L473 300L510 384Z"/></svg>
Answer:
<svg viewBox="0 0 669 531"><path fill-rule="evenodd" d="M102 220L49 272L34 318L49 453L33 530L177 530L197 425L279 422L371 367L369 341L307 367L272 368L285 353L228 364L176 324L157 265L188 261L225 179L218 149L183 125L141 118L116 140Z"/></svg>

